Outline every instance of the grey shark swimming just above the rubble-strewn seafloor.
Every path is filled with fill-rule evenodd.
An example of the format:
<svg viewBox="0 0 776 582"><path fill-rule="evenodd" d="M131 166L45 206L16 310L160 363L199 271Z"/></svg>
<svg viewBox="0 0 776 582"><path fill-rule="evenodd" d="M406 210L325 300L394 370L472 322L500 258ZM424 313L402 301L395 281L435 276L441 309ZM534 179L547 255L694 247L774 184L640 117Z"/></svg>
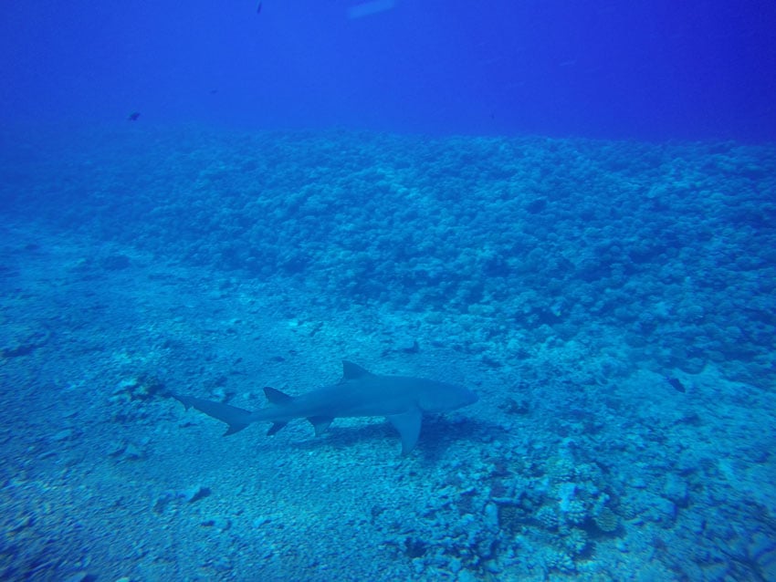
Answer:
<svg viewBox="0 0 776 582"><path fill-rule="evenodd" d="M411 452L420 435L423 415L455 411L477 402L475 392L463 386L413 376L373 374L350 361L342 361L342 379L299 396L266 387L267 408L246 411L223 402L173 393L185 410L194 408L228 425L224 436L242 431L254 422L272 422L272 435L294 419L307 419L318 436L337 418L384 416L398 431L402 455Z"/></svg>

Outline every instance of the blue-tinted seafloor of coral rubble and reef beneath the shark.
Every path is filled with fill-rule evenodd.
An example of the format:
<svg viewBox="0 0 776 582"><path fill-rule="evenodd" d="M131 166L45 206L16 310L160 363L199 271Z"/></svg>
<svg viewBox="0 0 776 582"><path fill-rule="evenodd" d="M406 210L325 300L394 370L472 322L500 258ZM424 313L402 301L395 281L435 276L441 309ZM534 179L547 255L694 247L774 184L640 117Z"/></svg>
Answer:
<svg viewBox="0 0 776 582"><path fill-rule="evenodd" d="M0 577L776 579L776 147L2 136ZM378 373L380 418L246 409ZM666 376L678 379L676 390Z"/></svg>

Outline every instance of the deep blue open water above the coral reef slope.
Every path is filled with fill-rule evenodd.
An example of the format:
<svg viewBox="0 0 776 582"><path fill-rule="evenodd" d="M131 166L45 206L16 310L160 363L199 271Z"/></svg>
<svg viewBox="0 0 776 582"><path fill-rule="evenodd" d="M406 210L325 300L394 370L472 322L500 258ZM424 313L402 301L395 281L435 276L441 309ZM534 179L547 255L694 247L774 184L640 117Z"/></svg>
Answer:
<svg viewBox="0 0 776 582"><path fill-rule="evenodd" d="M776 139L772 0L4 2L0 120Z"/></svg>

